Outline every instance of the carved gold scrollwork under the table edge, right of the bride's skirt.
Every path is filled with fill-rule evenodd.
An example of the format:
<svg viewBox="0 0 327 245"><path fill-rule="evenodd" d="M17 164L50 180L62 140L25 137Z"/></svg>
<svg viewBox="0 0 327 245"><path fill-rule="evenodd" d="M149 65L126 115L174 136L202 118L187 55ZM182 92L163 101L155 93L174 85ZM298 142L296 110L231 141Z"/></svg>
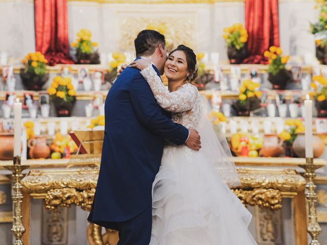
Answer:
<svg viewBox="0 0 327 245"><path fill-rule="evenodd" d="M232 189L232 191L244 205L258 205L271 210L282 208L282 194L279 190L256 188L253 190Z"/></svg>

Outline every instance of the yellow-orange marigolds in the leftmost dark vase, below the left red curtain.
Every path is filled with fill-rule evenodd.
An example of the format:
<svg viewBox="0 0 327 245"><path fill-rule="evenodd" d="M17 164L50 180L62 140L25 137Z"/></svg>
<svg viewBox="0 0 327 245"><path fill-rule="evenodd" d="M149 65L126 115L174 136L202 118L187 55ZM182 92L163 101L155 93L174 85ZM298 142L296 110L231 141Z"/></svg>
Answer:
<svg viewBox="0 0 327 245"><path fill-rule="evenodd" d="M43 76L46 73L46 64L48 60L40 52L29 53L21 61L25 66L25 71L32 74Z"/></svg>

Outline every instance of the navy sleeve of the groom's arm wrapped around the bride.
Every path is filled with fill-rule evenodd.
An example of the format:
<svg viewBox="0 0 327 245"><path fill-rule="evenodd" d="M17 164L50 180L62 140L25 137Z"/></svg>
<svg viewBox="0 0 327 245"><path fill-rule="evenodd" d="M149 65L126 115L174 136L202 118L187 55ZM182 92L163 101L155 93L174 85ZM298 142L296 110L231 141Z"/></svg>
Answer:
<svg viewBox="0 0 327 245"><path fill-rule="evenodd" d="M144 125L155 134L177 145L185 143L189 137L189 130L180 124L175 124L169 117L162 114L149 84L141 74L136 75L131 81L129 92L137 118Z"/></svg>

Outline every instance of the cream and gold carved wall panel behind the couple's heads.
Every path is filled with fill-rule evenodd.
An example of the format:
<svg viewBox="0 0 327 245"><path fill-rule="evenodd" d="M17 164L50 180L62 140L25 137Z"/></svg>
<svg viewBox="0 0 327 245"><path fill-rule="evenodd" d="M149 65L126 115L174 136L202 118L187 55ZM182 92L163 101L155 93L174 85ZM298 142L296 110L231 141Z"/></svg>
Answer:
<svg viewBox="0 0 327 245"><path fill-rule="evenodd" d="M137 34L147 29L162 25L167 27L164 33L168 50L184 44L198 48L198 14L195 11L169 11L147 9L145 11L116 12L116 47L119 51L134 53L134 39Z"/></svg>

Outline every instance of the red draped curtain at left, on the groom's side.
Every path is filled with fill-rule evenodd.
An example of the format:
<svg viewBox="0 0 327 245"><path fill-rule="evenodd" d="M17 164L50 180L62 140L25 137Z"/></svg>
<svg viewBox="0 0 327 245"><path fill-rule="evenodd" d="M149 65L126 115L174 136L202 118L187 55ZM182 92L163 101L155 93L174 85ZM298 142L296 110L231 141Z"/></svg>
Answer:
<svg viewBox="0 0 327 245"><path fill-rule="evenodd" d="M66 0L35 0L36 51L49 65L74 64L69 56Z"/></svg>

